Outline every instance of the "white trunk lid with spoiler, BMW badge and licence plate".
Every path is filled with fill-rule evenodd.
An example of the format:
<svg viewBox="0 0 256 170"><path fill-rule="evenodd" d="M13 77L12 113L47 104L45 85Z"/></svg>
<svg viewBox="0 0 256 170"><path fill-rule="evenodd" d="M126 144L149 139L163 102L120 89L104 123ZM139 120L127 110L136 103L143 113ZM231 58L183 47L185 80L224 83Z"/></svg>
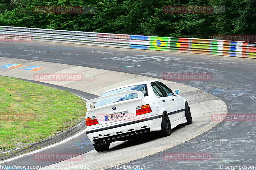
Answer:
<svg viewBox="0 0 256 170"><path fill-rule="evenodd" d="M86 102L87 112L90 117L95 116L100 125L131 121L135 119L136 107L141 106L143 98L144 94L137 90L98 97Z"/></svg>

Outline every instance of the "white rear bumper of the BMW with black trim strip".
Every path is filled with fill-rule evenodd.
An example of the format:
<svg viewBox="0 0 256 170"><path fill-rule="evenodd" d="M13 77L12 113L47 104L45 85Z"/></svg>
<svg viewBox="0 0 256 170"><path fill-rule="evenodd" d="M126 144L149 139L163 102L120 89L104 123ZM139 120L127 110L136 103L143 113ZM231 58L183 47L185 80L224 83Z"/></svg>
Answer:
<svg viewBox="0 0 256 170"><path fill-rule="evenodd" d="M117 125L90 129L86 131L90 141L94 144L95 141L122 141L128 140L138 134L161 130L162 114L154 115L132 122L124 122Z"/></svg>

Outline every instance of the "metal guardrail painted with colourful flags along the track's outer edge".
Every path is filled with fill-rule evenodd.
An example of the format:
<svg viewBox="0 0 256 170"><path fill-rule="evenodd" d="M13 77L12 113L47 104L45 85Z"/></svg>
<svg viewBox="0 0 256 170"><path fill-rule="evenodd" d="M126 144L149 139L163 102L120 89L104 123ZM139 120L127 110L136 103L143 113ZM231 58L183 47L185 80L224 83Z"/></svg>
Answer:
<svg viewBox="0 0 256 170"><path fill-rule="evenodd" d="M0 41L50 41L256 58L256 43L0 26Z"/></svg>

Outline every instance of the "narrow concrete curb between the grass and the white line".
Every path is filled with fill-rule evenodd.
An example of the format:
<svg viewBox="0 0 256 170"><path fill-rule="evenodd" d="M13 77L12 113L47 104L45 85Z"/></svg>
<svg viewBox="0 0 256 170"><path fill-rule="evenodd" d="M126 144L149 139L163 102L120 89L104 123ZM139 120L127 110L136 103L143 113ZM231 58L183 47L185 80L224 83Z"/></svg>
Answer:
<svg viewBox="0 0 256 170"><path fill-rule="evenodd" d="M39 149L41 147L59 142L60 140L62 140L64 138L72 135L73 133L76 133L79 130L83 129L85 127L85 125L86 125L86 122L85 122L85 120L83 120L83 121L79 122L78 124L76 124L75 126L71 127L70 129L65 130L64 132L60 132L59 134L57 134L53 137L50 137L50 138L47 138L47 139L44 139L42 141L35 142L35 143L32 143L32 144L27 144L27 145L24 145L24 146L21 146L21 147L12 149L12 150L7 150L7 151L4 151L4 152L0 152L0 160L10 158L12 156L19 155L19 154L22 154L22 153L30 152L30 151Z"/></svg>

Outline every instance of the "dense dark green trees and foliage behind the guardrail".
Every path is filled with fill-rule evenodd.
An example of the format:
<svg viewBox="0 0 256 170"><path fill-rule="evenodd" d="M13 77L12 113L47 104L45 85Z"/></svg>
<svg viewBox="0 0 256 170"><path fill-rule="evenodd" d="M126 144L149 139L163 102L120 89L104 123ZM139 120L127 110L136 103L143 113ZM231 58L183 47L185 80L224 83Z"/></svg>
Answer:
<svg viewBox="0 0 256 170"><path fill-rule="evenodd" d="M101 33L210 38L255 34L254 0L1 0L0 25ZM223 6L223 13L170 14L164 6ZM36 14L35 6L92 6L92 14Z"/></svg>

